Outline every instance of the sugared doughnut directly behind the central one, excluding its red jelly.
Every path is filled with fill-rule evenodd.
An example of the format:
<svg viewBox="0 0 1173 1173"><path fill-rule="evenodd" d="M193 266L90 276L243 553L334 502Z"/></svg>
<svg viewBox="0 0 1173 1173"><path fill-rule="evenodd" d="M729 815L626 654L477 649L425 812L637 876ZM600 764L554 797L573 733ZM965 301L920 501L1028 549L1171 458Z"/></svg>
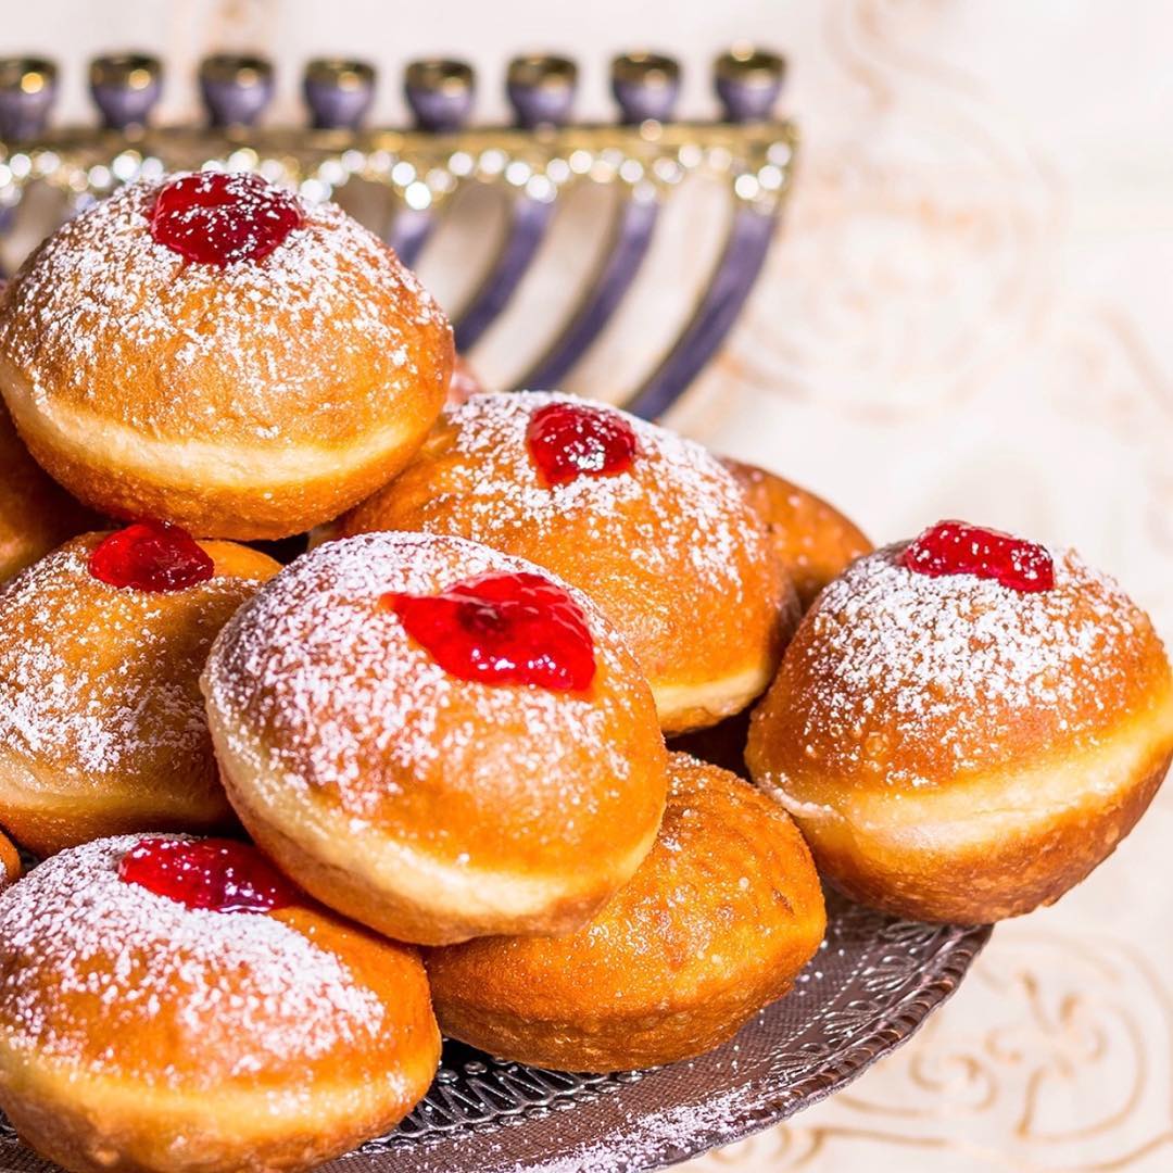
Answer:
<svg viewBox="0 0 1173 1173"><path fill-rule="evenodd" d="M484 393L448 406L404 473L341 534L418 530L483 542L586 591L626 638L667 733L761 693L795 619L765 529L699 445L633 416L633 467L545 486L533 413L572 396Z"/></svg>

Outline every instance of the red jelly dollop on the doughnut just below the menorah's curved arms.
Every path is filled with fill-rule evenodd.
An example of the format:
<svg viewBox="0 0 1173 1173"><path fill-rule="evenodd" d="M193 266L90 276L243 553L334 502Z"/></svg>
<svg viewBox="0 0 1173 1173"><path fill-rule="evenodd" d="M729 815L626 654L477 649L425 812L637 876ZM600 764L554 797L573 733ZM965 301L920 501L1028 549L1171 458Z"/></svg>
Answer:
<svg viewBox="0 0 1173 1173"><path fill-rule="evenodd" d="M590 404L547 404L529 418L530 456L547 484L613 476L636 462L636 433L618 413Z"/></svg>

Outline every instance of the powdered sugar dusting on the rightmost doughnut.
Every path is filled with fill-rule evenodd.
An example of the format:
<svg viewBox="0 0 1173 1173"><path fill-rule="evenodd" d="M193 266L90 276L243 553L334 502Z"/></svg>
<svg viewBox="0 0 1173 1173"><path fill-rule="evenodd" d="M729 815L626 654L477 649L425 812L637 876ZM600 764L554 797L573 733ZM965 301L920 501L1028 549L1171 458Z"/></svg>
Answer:
<svg viewBox="0 0 1173 1173"><path fill-rule="evenodd" d="M856 561L808 616L809 638L794 647L804 663L784 670L815 682L802 701L807 738L829 734L848 762L882 750L873 738L914 759L931 744L964 769L996 761L1001 739L1033 714L1079 737L1089 706L1110 713L1123 703L1134 650L1155 637L1077 554L1052 550L1055 588L1024 594L974 575L915 574L900 563L904 545Z"/></svg>

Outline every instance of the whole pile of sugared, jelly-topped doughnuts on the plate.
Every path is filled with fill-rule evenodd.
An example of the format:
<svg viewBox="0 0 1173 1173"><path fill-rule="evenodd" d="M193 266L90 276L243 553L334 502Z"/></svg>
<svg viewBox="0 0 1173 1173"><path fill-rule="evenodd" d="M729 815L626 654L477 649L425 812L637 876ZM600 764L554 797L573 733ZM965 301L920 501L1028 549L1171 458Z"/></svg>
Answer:
<svg viewBox="0 0 1173 1173"><path fill-rule="evenodd" d="M701 1055L815 955L822 880L1029 911L1173 754L1164 649L1077 555L873 551L663 427L483 391L377 237L256 175L50 237L0 394L0 1107L67 1169L310 1169L441 1030Z"/></svg>

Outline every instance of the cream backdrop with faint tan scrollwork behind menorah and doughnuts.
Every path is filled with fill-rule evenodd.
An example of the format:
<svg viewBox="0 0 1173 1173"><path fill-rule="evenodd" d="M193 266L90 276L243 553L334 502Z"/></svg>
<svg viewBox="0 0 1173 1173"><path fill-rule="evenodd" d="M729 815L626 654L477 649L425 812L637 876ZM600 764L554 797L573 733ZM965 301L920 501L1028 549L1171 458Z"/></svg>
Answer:
<svg viewBox="0 0 1173 1173"><path fill-rule="evenodd" d="M15 11L12 11L15 9ZM68 32L65 32L68 29ZM942 515L1078 545L1173 633L1173 8L1139 0L223 0L9 5L7 48L70 66L128 43L178 76L260 48L285 76L319 52L481 66L513 52L602 62L639 45L706 61L735 38L785 49L806 151L785 239L726 353L676 422L830 496L873 536ZM168 113L192 111L172 86ZM385 86L379 115L402 110ZM698 197L700 198L700 197ZM663 337L704 226L678 224L605 355L613 391ZM449 258L450 262L450 258ZM435 272L443 286L449 273ZM520 365L523 291L476 355ZM650 341L651 340L651 341ZM690 1169L1022 1173L1173 1169L1173 791L1057 908L1001 927L956 998L903 1050L792 1124Z"/></svg>

